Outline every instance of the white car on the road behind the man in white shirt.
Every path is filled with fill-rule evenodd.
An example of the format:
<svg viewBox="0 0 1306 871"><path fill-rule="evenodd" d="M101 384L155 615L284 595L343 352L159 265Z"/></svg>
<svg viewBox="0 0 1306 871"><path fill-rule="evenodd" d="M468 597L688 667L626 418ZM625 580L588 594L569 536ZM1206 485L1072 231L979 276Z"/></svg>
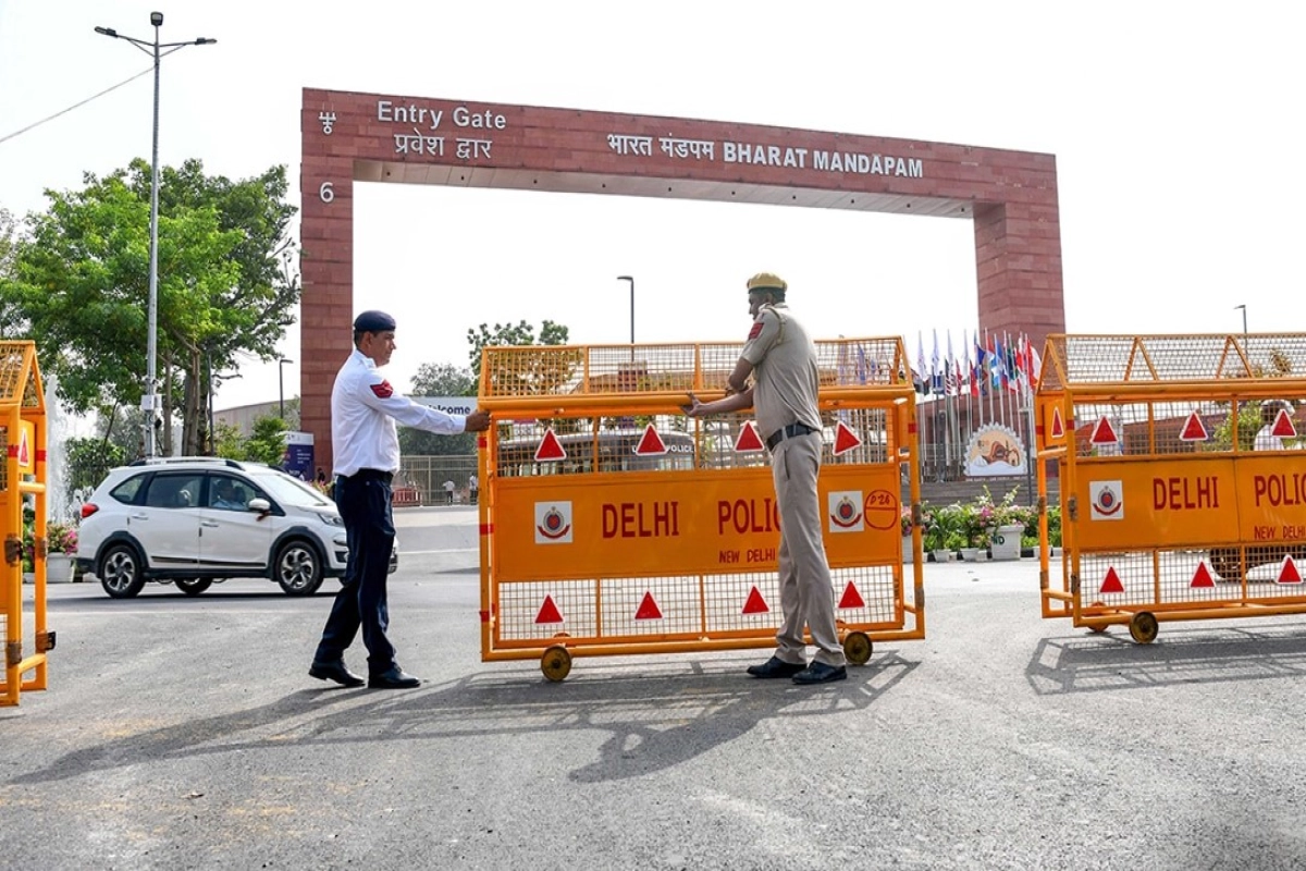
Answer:
<svg viewBox="0 0 1306 871"><path fill-rule="evenodd" d="M146 581L199 595L229 577L266 577L312 595L342 577L349 546L336 503L286 473L221 457L120 466L82 505L77 567L114 598ZM389 571L398 567L398 545Z"/></svg>

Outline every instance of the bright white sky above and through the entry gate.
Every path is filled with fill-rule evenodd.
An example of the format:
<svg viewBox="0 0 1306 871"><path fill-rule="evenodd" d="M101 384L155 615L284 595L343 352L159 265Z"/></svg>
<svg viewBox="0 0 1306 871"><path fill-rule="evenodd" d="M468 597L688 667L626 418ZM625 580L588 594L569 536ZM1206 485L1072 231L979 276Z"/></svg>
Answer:
<svg viewBox="0 0 1306 871"><path fill-rule="evenodd" d="M1306 329L1303 17L1209 3L132 3L0 0L0 136L150 67L95 25L218 39L163 60L161 161L298 205L300 89L742 121L1057 155L1071 332ZM151 77L0 144L0 205L149 158ZM355 311L398 320L389 376L466 364L481 323L576 343L743 340L743 282L778 272L818 338L977 323L969 221L359 184ZM349 325L342 324L342 330ZM299 328L281 343L298 393ZM929 354L929 347L927 347ZM243 366L217 407L277 398Z"/></svg>

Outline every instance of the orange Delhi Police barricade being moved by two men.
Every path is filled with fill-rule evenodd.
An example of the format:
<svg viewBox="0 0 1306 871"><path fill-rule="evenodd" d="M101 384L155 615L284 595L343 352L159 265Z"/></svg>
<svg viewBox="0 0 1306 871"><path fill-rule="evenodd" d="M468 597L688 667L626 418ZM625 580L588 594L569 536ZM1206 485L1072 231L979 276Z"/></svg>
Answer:
<svg viewBox="0 0 1306 871"><path fill-rule="evenodd" d="M921 539L904 584L901 501L919 504L900 340L818 342L820 500L840 637L925 637ZM490 347L479 405L482 658L767 646L780 624L778 511L748 415L690 419L742 345ZM910 627L908 623L910 622Z"/></svg>

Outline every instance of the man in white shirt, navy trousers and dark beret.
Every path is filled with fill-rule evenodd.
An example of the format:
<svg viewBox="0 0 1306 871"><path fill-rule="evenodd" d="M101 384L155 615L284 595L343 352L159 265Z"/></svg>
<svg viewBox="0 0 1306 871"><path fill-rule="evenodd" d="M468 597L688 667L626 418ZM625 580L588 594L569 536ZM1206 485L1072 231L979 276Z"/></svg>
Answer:
<svg viewBox="0 0 1306 871"><path fill-rule="evenodd" d="M445 414L396 393L377 371L393 353L394 319L379 311L359 315L354 351L336 375L330 396L336 505L345 521L349 563L308 674L346 687L363 686L345 665L345 650L359 628L367 646L368 687L404 689L422 683L398 666L385 636L385 580L394 547L390 481L400 467L396 420L441 435L481 432L490 426L488 411Z"/></svg>

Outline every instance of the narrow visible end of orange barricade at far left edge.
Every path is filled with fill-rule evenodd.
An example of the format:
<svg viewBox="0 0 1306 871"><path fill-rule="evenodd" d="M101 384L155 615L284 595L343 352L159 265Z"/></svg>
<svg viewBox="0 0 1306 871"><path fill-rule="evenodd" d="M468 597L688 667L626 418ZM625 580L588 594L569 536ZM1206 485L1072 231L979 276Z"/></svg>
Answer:
<svg viewBox="0 0 1306 871"><path fill-rule="evenodd" d="M46 400L30 341L0 342L0 524L4 525L4 565L0 565L0 632L4 633L4 673L0 705L17 705L24 689L46 688L46 653L55 633L46 629ZM24 500L33 515L31 646L24 644L22 562ZM33 673L30 678L24 675Z"/></svg>

